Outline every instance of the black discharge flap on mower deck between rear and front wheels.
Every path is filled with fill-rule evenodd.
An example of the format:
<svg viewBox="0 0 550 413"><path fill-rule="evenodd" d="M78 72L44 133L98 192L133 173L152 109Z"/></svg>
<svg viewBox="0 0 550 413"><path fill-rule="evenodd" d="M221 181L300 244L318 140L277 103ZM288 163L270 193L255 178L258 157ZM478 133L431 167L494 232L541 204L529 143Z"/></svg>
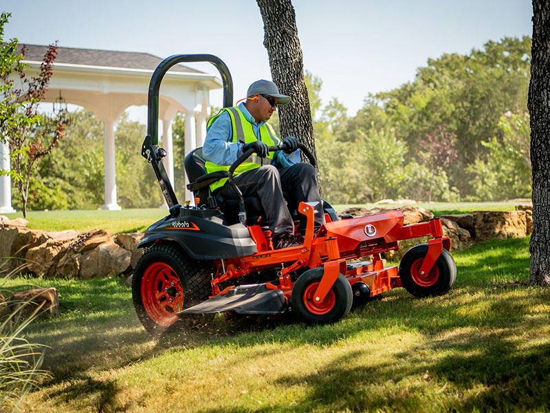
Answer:
<svg viewBox="0 0 550 413"><path fill-rule="evenodd" d="M268 290L265 284L252 284L232 288L225 294L217 295L206 301L176 313L211 314L234 311L237 314L281 315L287 310L285 295L281 290Z"/></svg>

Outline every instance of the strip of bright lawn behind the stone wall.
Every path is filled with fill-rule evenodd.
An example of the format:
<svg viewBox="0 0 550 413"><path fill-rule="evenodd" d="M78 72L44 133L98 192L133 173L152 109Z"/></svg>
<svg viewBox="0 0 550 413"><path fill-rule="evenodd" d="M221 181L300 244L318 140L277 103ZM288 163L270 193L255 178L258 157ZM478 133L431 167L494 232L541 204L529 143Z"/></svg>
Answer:
<svg viewBox="0 0 550 413"><path fill-rule="evenodd" d="M417 207L425 208L434 215L445 215L448 213L467 213L472 211L493 210L513 211L518 202L461 202L450 204L448 202L415 204ZM335 205L336 211L349 207L366 207L372 209L395 208L395 204L342 204ZM153 222L168 215L166 209L122 209L122 211L30 211L27 220L28 227L42 229L43 231L63 231L65 229L76 229L86 232L92 229L104 229L110 234L144 232ZM7 214L8 218L22 217L21 213Z"/></svg>

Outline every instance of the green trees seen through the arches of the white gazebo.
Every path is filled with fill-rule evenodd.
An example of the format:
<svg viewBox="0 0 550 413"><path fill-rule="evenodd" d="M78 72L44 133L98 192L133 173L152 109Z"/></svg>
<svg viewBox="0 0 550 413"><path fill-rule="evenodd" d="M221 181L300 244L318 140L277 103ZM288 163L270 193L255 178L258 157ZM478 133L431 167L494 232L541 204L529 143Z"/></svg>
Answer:
<svg viewBox="0 0 550 413"><path fill-rule="evenodd" d="M65 138L31 181L36 209L97 209L104 202L104 125L87 110L75 112L74 118ZM144 136L144 125L131 122L126 114L120 117L115 131L115 167L118 203L123 208L162 204L153 168L139 150ZM18 200L12 202L18 208Z"/></svg>

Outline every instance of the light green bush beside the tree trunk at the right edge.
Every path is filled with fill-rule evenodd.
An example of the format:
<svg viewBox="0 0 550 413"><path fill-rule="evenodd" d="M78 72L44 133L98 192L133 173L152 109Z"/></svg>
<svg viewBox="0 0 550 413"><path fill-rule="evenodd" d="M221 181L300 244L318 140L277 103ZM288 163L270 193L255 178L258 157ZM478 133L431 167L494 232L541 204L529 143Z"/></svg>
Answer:
<svg viewBox="0 0 550 413"><path fill-rule="evenodd" d="M529 113L507 112L498 128L498 138L481 142L489 153L470 166L472 186L486 200L531 198Z"/></svg>

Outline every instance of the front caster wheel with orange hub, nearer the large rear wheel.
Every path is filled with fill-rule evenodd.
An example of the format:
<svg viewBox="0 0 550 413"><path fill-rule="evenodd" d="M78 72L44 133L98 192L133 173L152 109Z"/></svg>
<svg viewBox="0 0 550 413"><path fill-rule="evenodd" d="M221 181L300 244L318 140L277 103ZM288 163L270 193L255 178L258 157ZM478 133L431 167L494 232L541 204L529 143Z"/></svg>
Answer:
<svg viewBox="0 0 550 413"><path fill-rule="evenodd" d="M353 302L351 286L346 277L340 274L322 303L314 303L312 296L322 279L323 271L322 267L306 271L298 277L292 288L292 310L309 323L338 321L349 313Z"/></svg>

